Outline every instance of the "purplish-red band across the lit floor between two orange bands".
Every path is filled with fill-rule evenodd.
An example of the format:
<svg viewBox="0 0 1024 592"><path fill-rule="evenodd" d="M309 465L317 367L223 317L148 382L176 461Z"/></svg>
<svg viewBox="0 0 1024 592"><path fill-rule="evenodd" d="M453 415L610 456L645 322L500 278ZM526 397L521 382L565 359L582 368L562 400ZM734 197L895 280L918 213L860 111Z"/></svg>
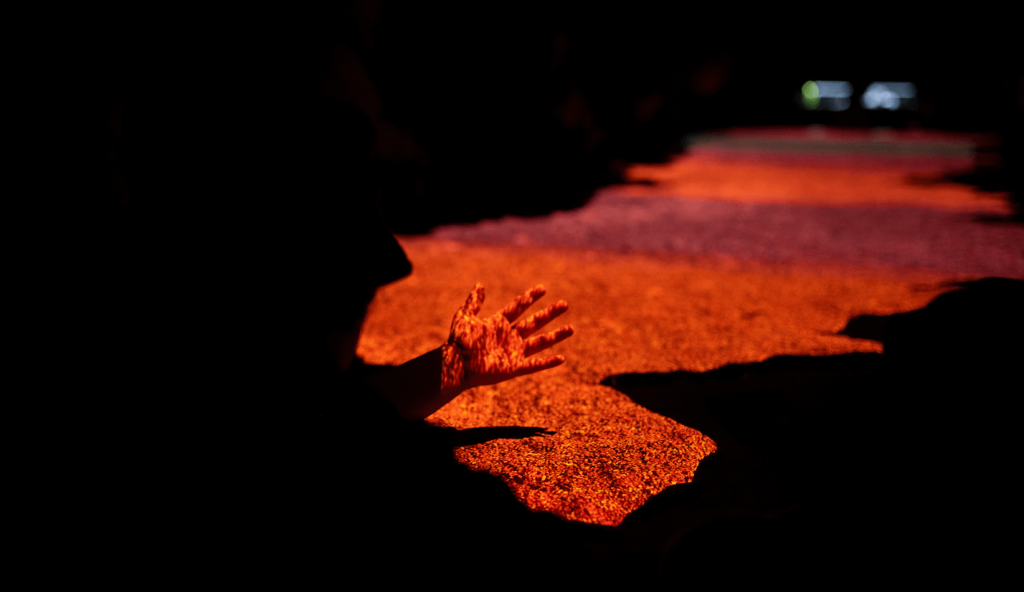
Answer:
<svg viewBox="0 0 1024 592"><path fill-rule="evenodd" d="M444 226L432 236L480 244L1024 276L1024 227L981 223L971 212L908 206L836 207L604 194L572 212Z"/></svg>

